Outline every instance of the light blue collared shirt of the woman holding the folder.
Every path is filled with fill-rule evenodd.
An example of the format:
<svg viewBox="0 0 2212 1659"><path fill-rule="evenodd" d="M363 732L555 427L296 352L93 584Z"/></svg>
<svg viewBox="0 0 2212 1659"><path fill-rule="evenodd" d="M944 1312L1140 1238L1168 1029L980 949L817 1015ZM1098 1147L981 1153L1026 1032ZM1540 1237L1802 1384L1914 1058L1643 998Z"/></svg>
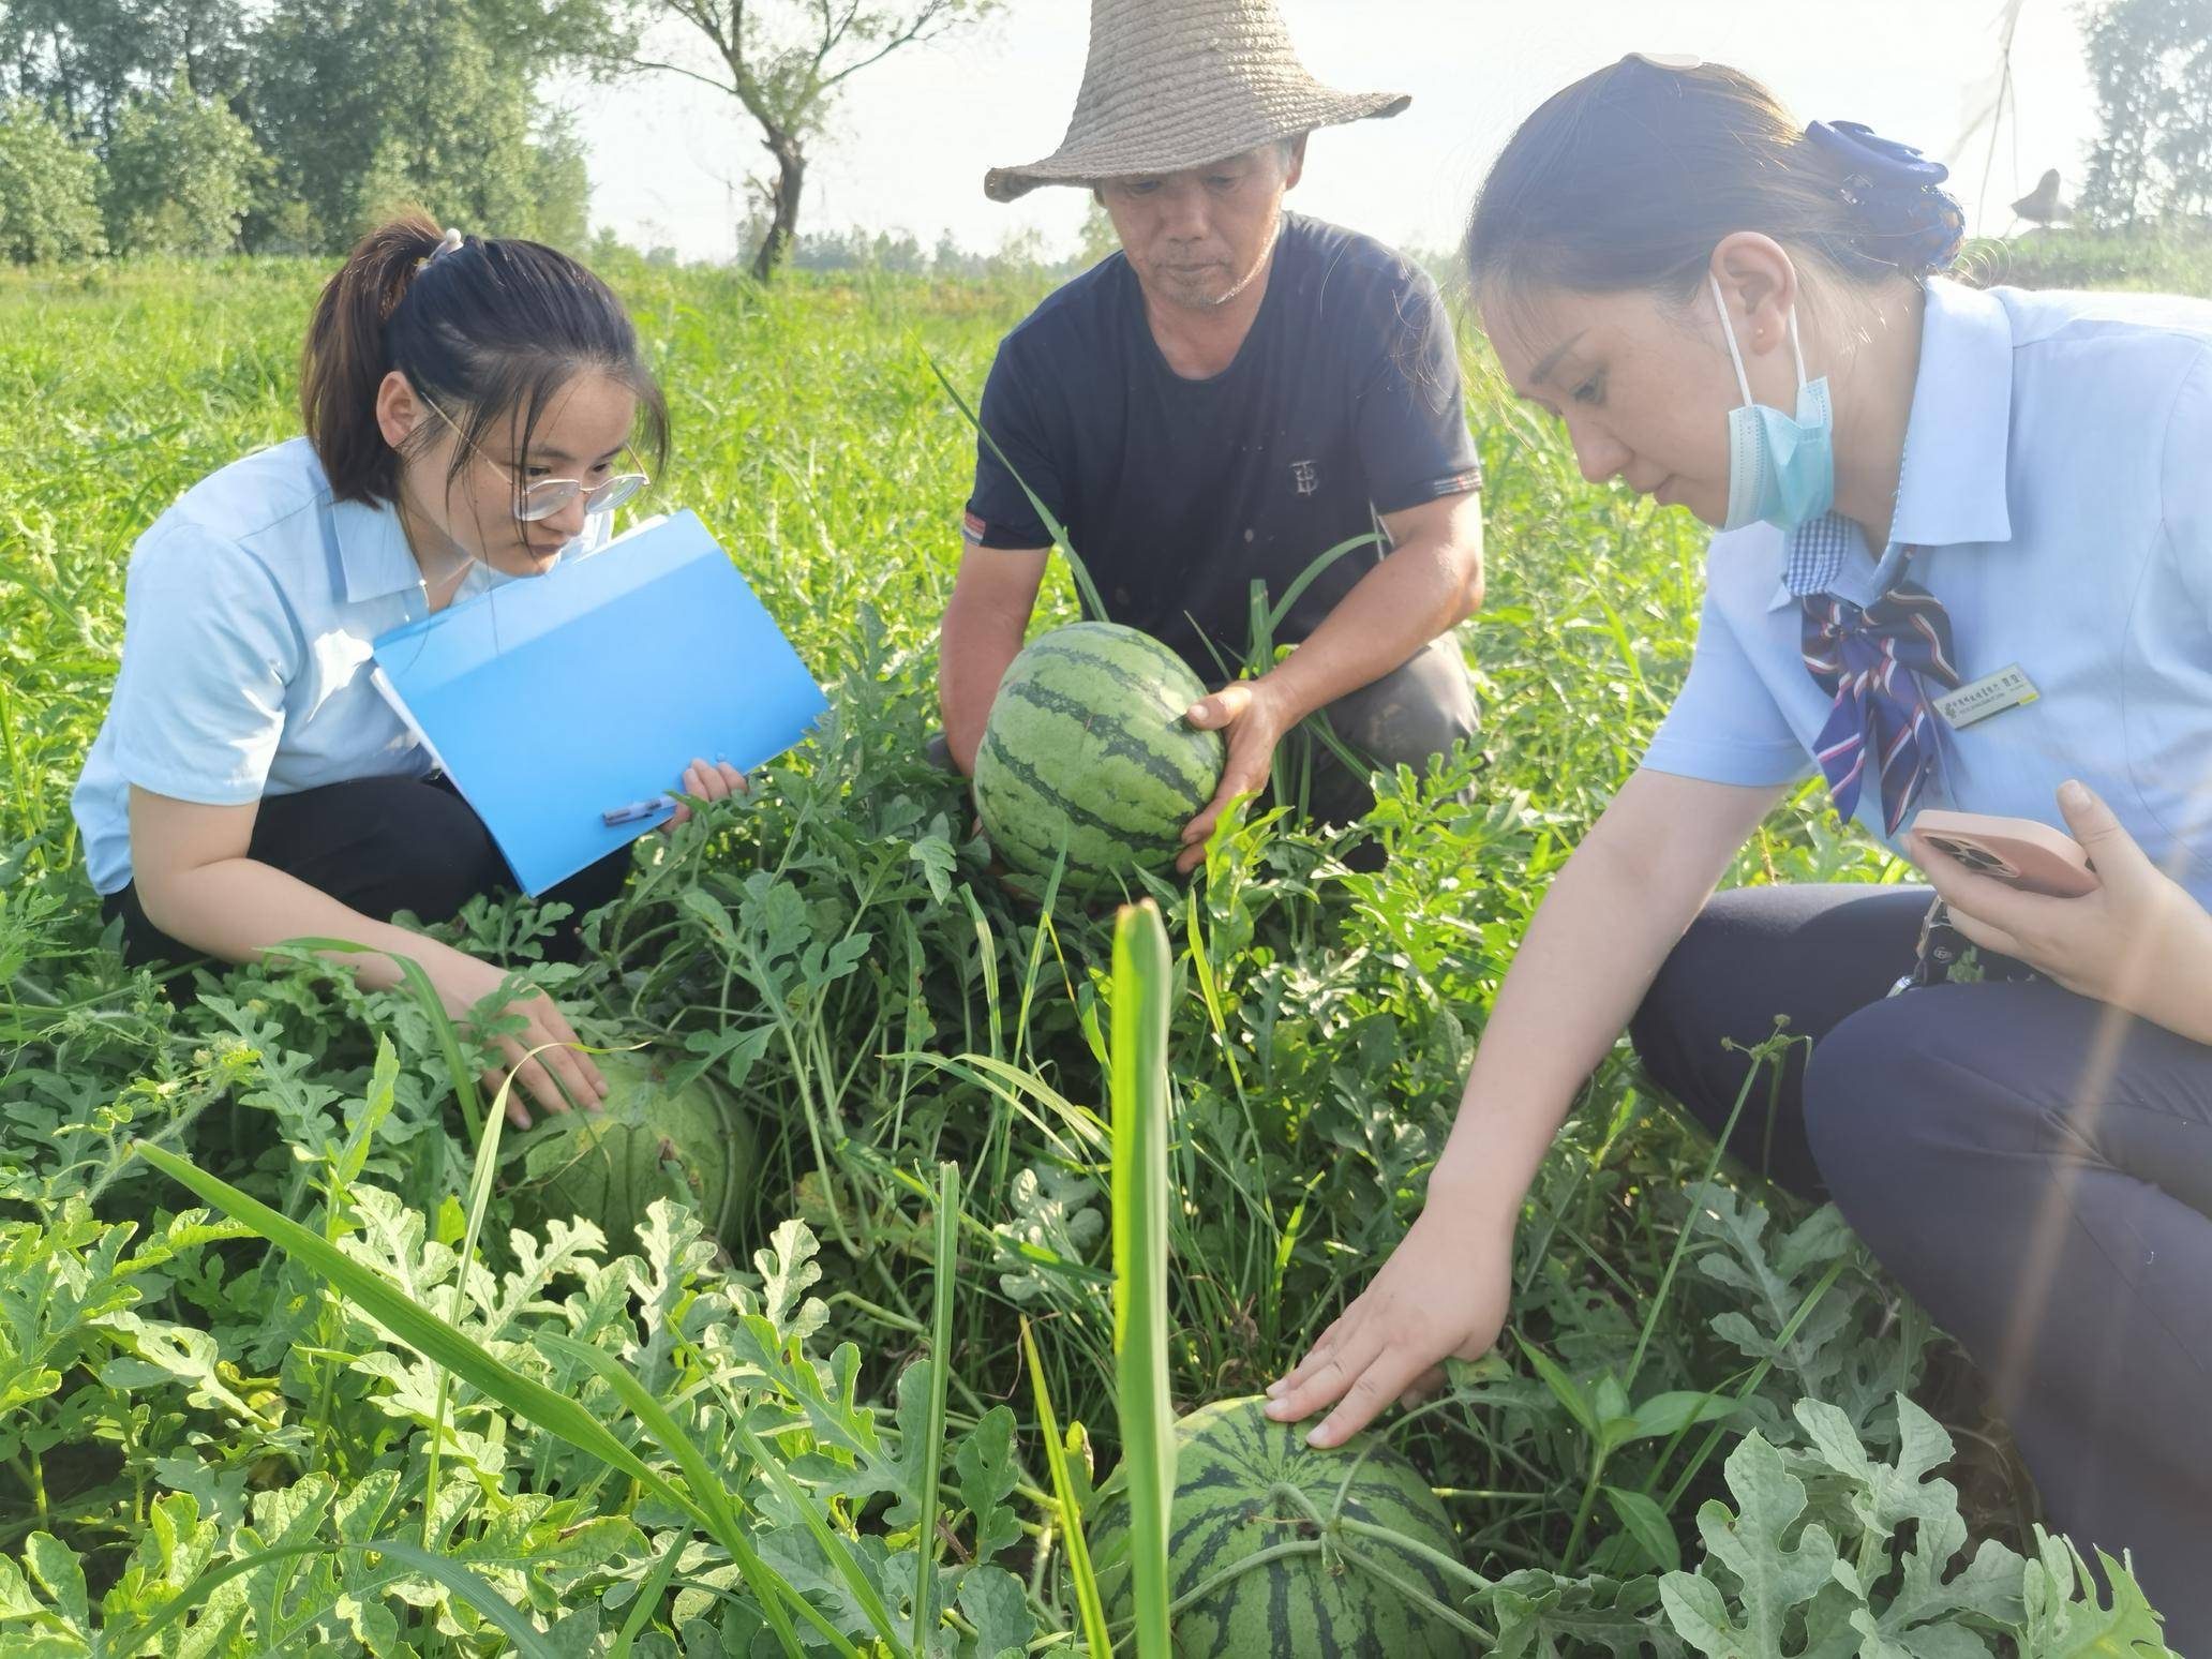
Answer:
<svg viewBox="0 0 2212 1659"><path fill-rule="evenodd" d="M584 520L562 557L599 546ZM511 582L469 566L453 599ZM131 785L234 807L369 776L425 776L376 690L369 644L429 613L398 515L334 502L305 438L201 478L131 551L124 661L71 796L100 894L131 883Z"/></svg>

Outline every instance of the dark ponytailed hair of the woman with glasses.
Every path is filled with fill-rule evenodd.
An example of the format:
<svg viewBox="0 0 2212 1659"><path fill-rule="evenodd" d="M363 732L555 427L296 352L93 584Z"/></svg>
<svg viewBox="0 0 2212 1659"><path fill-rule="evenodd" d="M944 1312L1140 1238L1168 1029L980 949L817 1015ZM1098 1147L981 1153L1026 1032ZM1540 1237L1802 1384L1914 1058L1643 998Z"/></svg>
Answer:
<svg viewBox="0 0 2212 1659"><path fill-rule="evenodd" d="M398 498L400 451L376 425L392 369L460 422L453 476L511 414L526 449L546 405L586 369L637 396L655 469L668 456L668 403L628 312L544 243L451 243L427 215L405 212L354 246L316 301L299 376L301 422L341 502Z"/></svg>

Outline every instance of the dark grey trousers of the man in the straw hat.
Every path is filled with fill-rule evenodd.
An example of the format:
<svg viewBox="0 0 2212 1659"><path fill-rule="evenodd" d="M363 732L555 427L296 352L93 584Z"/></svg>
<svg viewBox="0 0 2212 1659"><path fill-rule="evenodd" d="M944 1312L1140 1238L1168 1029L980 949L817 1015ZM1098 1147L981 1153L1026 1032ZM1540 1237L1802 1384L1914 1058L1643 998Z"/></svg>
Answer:
<svg viewBox="0 0 2212 1659"><path fill-rule="evenodd" d="M1323 714L1345 748L1383 772L1400 763L1422 772L1431 754L1449 754L1453 743L1482 730L1475 684L1467 675L1458 630L1431 639L1411 661L1371 686L1345 692ZM929 739L929 759L951 770L951 750L942 734ZM1267 794L1283 799L1298 790L1301 781L1305 810L1321 823L1354 823L1376 803L1367 774L1347 768L1336 750L1303 728L1290 732L1276 750Z"/></svg>

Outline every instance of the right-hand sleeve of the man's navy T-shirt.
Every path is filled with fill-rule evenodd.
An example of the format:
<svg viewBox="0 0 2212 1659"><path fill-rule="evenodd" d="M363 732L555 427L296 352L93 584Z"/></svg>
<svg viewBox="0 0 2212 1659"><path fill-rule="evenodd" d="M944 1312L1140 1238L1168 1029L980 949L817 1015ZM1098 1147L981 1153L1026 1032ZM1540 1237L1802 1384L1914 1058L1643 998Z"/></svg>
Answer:
<svg viewBox="0 0 2212 1659"><path fill-rule="evenodd" d="M1482 489L1451 316L1427 272L1407 268L1371 349L1354 420L1376 511L1396 513Z"/></svg>

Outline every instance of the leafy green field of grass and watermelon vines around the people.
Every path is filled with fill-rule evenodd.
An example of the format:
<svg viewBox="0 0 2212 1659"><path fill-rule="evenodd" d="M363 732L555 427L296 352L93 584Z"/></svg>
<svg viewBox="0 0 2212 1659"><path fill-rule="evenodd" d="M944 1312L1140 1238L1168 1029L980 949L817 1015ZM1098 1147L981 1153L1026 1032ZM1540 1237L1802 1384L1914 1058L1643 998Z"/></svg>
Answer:
<svg viewBox="0 0 2212 1659"><path fill-rule="evenodd" d="M469 1066L405 993L257 967L179 1013L102 949L69 790L124 557L296 429L316 276L0 279L0 1652L1082 1650L1020 1325L1079 1495L1119 1451L1113 916L1006 896L920 754L971 458L925 347L978 387L1035 292L615 272L677 414L653 504L706 518L834 703L754 799L646 838L584 967L535 969L586 1040L754 1117L719 1256L668 1206L635 1239L513 1230L471 1190ZM1239 827L1161 891L1177 1409L1259 1389L1416 1214L1513 942L1688 664L1699 526L1586 487L1469 369L1482 752L1347 836ZM1345 867L1363 838L1380 874ZM1805 794L1736 878L1893 874ZM449 936L529 962L538 931L509 902ZM1471 1650L2148 1635L2037 1557L1971 1376L1838 1217L1710 1159L1617 1051L1531 1194L1506 1340L1389 1433L1460 1531ZM1922 1484L1944 1431L1900 1394L1971 1453L1964 1498Z"/></svg>

